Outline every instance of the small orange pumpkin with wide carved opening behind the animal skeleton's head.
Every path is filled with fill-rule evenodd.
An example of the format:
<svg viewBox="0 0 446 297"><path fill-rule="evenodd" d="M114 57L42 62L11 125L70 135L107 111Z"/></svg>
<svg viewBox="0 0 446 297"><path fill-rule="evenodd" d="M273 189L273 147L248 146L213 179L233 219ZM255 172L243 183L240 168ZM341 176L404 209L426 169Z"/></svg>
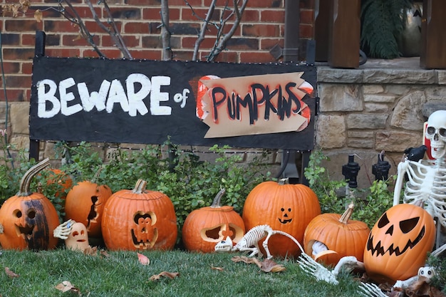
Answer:
<svg viewBox="0 0 446 297"><path fill-rule="evenodd" d="M238 242L244 235L242 217L234 211L234 207L220 206L224 189L215 196L210 207L202 207L192 211L182 227L182 240L188 251L211 253L217 242L229 236Z"/></svg>

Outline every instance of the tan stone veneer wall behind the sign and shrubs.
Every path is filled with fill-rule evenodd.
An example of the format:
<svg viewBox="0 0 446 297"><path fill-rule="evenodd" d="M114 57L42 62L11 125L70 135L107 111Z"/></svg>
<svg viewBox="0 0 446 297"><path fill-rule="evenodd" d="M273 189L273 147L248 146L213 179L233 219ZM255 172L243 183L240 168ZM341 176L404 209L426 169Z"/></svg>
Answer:
<svg viewBox="0 0 446 297"><path fill-rule="evenodd" d="M422 144L422 125L432 108L446 109L446 71L408 68L398 63L381 66L373 61L359 69L318 66L317 91L316 148L331 159L324 165L333 179L343 179L342 165L348 162L348 155L355 154L361 165L358 187L369 187L378 153L385 150L390 174L395 174L404 150ZM9 141L16 147L29 147L28 105L9 105ZM4 127L5 114L6 106L1 102L0 127ZM40 158L53 157L52 147L51 142L42 142ZM107 145L100 145L98 150L104 157L110 152ZM238 152L245 155L244 162L255 155ZM202 157L212 159L211 154ZM279 170L281 152L272 152L269 162L273 172Z"/></svg>

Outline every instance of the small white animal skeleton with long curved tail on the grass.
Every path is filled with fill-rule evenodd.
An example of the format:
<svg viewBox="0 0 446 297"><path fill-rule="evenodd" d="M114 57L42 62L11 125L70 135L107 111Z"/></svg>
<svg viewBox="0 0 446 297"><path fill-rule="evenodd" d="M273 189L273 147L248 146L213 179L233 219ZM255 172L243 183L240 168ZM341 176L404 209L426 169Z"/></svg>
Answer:
<svg viewBox="0 0 446 297"><path fill-rule="evenodd" d="M249 251L251 251L251 254L249 254L249 257L258 255L259 258L261 258L263 256L263 254L261 253L261 251L259 249L259 241L261 239L265 238L262 246L264 247L264 249L266 251L266 258L271 259L273 256L271 256L271 253L269 252L268 241L269 241L269 238L271 236L273 236L274 234L281 234L281 235L288 237L289 239L294 241L294 243L297 244L297 246L299 246L299 249L301 249L302 253L304 253L304 249L302 248L301 244L299 244L299 241L297 241L293 236L291 236L290 234L288 234L284 231L273 230L271 228L271 226L269 226L269 225L255 226L251 230L247 231L247 234L244 234L242 239L240 239L240 241L237 242L236 245L233 245L231 238L229 236L227 236L227 239L219 241L215 245L214 249L217 252L222 252L222 251L226 251L226 252L228 252L228 251L242 251L242 252L248 251L249 252Z"/></svg>

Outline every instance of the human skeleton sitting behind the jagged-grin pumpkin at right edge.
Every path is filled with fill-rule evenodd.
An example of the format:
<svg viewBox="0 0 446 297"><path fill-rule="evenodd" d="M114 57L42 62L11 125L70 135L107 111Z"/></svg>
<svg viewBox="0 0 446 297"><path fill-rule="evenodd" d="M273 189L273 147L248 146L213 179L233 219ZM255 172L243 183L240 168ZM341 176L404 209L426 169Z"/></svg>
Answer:
<svg viewBox="0 0 446 297"><path fill-rule="evenodd" d="M403 203L417 204L437 219L437 239L441 226L446 227L446 110L437 110L427 119L426 138L430 140L435 160L410 161L398 165L398 177L393 193L393 205L400 203L405 176ZM437 248L440 242L437 241Z"/></svg>

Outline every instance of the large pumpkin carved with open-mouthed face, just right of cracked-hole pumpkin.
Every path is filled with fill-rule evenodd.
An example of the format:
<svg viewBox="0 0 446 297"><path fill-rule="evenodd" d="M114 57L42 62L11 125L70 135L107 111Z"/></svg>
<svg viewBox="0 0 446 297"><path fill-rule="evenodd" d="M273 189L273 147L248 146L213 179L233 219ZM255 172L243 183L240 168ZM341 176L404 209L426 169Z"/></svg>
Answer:
<svg viewBox="0 0 446 297"><path fill-rule="evenodd" d="M145 189L138 179L135 189L121 189L103 209L102 235L110 250L172 249L177 241L177 216L172 201L161 192Z"/></svg>

